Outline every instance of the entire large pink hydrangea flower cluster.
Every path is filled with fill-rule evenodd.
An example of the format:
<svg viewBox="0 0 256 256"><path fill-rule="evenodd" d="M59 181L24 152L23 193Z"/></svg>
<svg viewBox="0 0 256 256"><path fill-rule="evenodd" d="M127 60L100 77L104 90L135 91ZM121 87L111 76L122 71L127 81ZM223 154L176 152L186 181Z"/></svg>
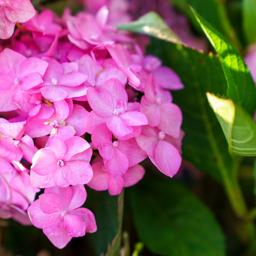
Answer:
<svg viewBox="0 0 256 256"><path fill-rule="evenodd" d="M96 231L84 184L118 195L143 178L146 157L169 177L181 163L170 90L183 84L109 13L45 10L0 52L0 218L31 220L58 248Z"/></svg>

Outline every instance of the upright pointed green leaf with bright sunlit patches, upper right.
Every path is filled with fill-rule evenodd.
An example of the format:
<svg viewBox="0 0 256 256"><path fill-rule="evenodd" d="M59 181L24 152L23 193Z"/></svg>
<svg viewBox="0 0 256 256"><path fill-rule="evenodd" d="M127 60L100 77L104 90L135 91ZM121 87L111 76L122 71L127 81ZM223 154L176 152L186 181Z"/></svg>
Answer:
<svg viewBox="0 0 256 256"><path fill-rule="evenodd" d="M224 36L207 23L194 9L192 12L219 55L228 84L227 96L234 102L241 104L248 113L253 115L256 109L256 87L243 58Z"/></svg>

